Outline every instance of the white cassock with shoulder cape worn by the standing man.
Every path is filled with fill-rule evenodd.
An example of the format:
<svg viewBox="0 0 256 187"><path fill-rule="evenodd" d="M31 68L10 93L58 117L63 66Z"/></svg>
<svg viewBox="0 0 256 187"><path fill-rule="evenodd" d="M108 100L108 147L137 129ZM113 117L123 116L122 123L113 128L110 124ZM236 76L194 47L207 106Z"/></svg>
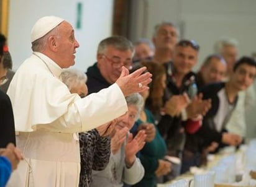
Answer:
<svg viewBox="0 0 256 187"><path fill-rule="evenodd" d="M88 131L127 111L117 84L80 98L59 79L62 69L42 53L19 67L7 94L11 98L17 147L25 160L7 186L78 186L80 147L73 134Z"/></svg>

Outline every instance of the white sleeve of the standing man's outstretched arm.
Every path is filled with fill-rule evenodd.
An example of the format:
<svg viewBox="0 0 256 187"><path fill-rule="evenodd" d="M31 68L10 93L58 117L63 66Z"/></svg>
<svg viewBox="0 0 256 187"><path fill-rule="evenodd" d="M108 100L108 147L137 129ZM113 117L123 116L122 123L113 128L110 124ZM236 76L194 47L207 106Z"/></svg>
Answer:
<svg viewBox="0 0 256 187"><path fill-rule="evenodd" d="M75 100L68 111L53 123L37 125L37 128L62 133L88 131L123 115L127 103L117 84L83 99Z"/></svg>

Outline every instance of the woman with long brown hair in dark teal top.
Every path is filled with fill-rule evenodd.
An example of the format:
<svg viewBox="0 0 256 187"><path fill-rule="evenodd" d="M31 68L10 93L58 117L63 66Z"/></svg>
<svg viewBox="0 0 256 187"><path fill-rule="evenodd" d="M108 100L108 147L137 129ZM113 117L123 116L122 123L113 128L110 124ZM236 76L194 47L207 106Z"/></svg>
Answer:
<svg viewBox="0 0 256 187"><path fill-rule="evenodd" d="M140 66L147 67L147 71L152 74L152 83L150 84L150 90L141 92L140 94L144 98L145 107L140 113L140 118L137 120L137 130L144 129L145 126L153 124L155 126L155 137L151 142L146 142L144 148L140 151L139 158L142 165L145 168L144 178L134 186L157 186L157 178L166 175L171 171L171 163L165 160L165 155L167 155L167 146L165 140L161 136L158 126L155 123L155 115L160 116L160 110L163 107L162 97L164 94L164 89L166 87L166 74L165 69L160 64L154 63L153 61L142 61L134 66L134 69ZM133 71L132 70L132 71ZM165 115L162 115L159 119L158 125L171 126L172 116L178 113L178 110L182 109L183 104L178 102L185 98L182 95L173 96L165 105L164 111ZM186 100L184 107L187 105ZM176 102L176 103L175 103ZM181 107L178 109L178 107ZM135 129L134 129L135 130Z"/></svg>

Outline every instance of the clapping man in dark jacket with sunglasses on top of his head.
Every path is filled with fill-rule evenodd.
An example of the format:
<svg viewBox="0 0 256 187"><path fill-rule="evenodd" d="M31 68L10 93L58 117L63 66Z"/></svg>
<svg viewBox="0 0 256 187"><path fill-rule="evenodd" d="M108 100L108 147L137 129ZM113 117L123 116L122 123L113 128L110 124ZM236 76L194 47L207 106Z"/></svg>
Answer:
<svg viewBox="0 0 256 187"><path fill-rule="evenodd" d="M165 100L169 100L173 95L186 94L191 102L177 116L174 116L171 126L158 125L160 133L165 137L168 155L185 158L187 150L198 152L194 143L194 133L199 129L202 116L211 107L211 100L202 100L202 95L197 94L195 74L193 67L198 61L199 45L194 40L181 40L173 50L173 59L170 63L165 63L167 73L167 89ZM181 172L186 172L188 164L182 160ZM191 160L191 159L186 159ZM167 176L166 181L173 176Z"/></svg>

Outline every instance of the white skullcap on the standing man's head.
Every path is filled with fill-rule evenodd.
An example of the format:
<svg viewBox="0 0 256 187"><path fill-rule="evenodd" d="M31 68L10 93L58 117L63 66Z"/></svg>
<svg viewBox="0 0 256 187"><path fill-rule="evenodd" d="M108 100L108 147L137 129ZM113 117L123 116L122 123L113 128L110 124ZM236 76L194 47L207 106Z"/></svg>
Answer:
<svg viewBox="0 0 256 187"><path fill-rule="evenodd" d="M64 19L56 16L45 16L37 20L34 27L31 30L31 43L39 38L42 38L48 32L50 32L53 28L57 27L60 23L62 23Z"/></svg>

